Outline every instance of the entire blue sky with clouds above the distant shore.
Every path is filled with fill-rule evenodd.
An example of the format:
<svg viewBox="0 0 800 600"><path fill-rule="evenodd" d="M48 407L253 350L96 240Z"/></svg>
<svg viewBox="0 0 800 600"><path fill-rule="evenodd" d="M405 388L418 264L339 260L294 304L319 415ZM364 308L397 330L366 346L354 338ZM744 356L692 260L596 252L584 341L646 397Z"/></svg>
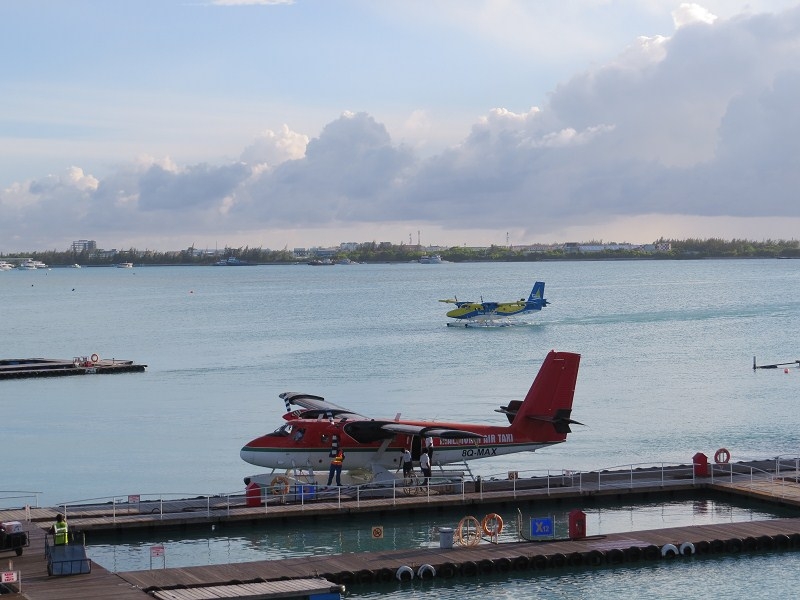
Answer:
<svg viewBox="0 0 800 600"><path fill-rule="evenodd" d="M800 238L800 1L3 0L0 252Z"/></svg>

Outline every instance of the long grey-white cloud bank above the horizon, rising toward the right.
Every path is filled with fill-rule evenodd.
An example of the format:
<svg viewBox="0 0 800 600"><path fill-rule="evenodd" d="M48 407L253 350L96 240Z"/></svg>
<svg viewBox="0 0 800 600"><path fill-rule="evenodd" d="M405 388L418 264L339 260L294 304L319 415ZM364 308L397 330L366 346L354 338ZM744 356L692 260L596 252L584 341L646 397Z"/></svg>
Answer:
<svg viewBox="0 0 800 600"><path fill-rule="evenodd" d="M397 139L371 114L345 112L316 136L267 130L227 162L143 156L106 176L72 167L15 184L0 191L0 239L9 248L53 247L56 236L68 236L64 247L111 236L228 243L331 230L343 241L392 228L395 241L423 229L456 243L499 231L493 241L503 243L506 231L608 239L603 231L623 225L681 237L659 223L716 234L711 219L738 235L743 223L763 231L766 218L786 231L800 218L800 8L712 17L683 5L673 35L635 40L540 106L488 111L433 155L404 143L435 127L427 111ZM286 240L277 247L316 243Z"/></svg>

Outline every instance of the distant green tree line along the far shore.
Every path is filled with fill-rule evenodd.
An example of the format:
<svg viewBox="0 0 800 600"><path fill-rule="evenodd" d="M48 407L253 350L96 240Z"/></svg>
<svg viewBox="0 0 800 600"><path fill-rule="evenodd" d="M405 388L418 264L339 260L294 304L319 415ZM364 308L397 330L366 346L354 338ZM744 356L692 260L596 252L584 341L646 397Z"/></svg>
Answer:
<svg viewBox="0 0 800 600"><path fill-rule="evenodd" d="M591 242L592 245L602 246L602 242ZM580 252L573 249L567 250L563 246L546 247L543 250L532 251L524 246L489 246L487 248L467 248L453 246L446 250L438 251L442 259L450 262L530 262L539 260L581 260L581 259L700 259L700 258L800 258L800 242L797 240L752 240L721 238L673 240L660 238L654 243L657 246L668 247L669 250L651 251L643 249L608 249L593 252ZM328 253L330 254L330 253ZM382 262L409 262L418 260L425 251L418 246L390 245L367 242L360 244L354 250L340 250L333 252L329 258L332 260L349 259L355 262L382 263ZM40 260L51 266L66 266L79 264L82 266L112 266L119 263L131 262L135 265L213 265L219 260L233 257L239 261L251 264L292 264L305 262L313 258L298 258L292 252L283 250L268 250L262 248L225 248L214 253L197 251L187 248L181 251L159 252L156 250L119 250L115 252L72 250L48 250L44 252L20 252L3 255L0 258L31 258Z"/></svg>

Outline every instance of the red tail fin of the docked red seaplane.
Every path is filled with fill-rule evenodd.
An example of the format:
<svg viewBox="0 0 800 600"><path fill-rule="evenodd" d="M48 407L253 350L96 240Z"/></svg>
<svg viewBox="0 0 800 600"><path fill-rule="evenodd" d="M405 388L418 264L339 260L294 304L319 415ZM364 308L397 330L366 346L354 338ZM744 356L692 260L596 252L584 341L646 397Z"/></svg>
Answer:
<svg viewBox="0 0 800 600"><path fill-rule="evenodd" d="M551 350L542 363L525 400L515 400L499 412L505 413L512 429L528 431L548 424L555 441L566 439L573 421L572 401L581 355Z"/></svg>

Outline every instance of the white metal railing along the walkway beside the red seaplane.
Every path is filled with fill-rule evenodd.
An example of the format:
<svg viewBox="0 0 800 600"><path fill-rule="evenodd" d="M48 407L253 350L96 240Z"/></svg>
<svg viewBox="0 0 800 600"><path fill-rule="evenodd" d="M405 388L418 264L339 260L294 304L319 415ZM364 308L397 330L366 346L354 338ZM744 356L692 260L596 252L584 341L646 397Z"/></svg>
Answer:
<svg viewBox="0 0 800 600"><path fill-rule="evenodd" d="M764 461L770 462L770 461ZM287 504L318 505L320 502L335 503L337 508L343 504L355 503L357 507L365 502L381 500L390 501L393 506L402 500L418 499L433 502L442 496L460 496L466 501L468 493L477 493L481 500L491 499L511 492L513 498L519 496L544 495L555 493L577 492L590 493L608 490L635 491L648 487L679 487L703 485L706 483L750 483L780 482L788 489L797 490L800 495L800 458L778 457L774 462L774 471L761 469L741 463L708 463L674 465L666 463L631 463L606 467L598 471L580 471L569 469L539 469L527 471L510 471L503 474L477 476L474 481L432 476L428 484L414 481L405 482L395 478L385 482L370 482L359 485L327 487L310 482L290 482L276 493L271 486L259 486L257 493L250 490L215 494L186 493L152 493L136 496L106 496L73 500L58 504L58 508L66 515L85 518L98 516L118 518L133 515L158 514L160 519L169 515L201 514L210 517L212 513L230 516L232 510L262 507L265 513L276 506ZM706 476L698 476L705 466ZM787 481L787 472L791 473ZM278 475L276 475L277 477ZM509 489L510 484L510 489ZM22 492L19 492L22 494ZM39 492L28 492L38 494ZM789 495L787 493L787 495ZM0 496L2 499L2 496ZM38 502L38 498L37 498Z"/></svg>

